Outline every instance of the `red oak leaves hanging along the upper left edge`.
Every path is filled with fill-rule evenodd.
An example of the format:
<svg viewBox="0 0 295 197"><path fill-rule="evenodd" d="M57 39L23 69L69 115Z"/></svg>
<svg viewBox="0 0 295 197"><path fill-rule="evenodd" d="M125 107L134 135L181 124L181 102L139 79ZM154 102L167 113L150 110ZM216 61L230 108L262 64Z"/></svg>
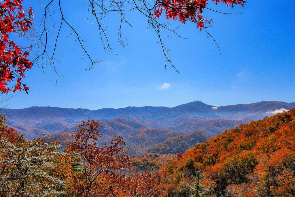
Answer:
<svg viewBox="0 0 295 197"><path fill-rule="evenodd" d="M32 26L32 7L28 14L24 14L22 0L6 0L0 3L0 92L7 94L10 91L28 92L29 88L22 83L24 72L33 65L27 57L28 51L22 51L9 36L14 33L25 35ZM8 83L16 80L14 87Z"/></svg>

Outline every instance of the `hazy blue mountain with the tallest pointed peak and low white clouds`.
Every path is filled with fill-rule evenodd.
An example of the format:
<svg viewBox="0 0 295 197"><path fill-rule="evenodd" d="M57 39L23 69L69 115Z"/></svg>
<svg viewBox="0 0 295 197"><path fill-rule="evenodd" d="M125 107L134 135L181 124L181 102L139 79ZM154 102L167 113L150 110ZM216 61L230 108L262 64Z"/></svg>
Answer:
<svg viewBox="0 0 295 197"><path fill-rule="evenodd" d="M265 101L216 107L207 105L201 101L194 101L155 113L132 115L128 118L155 128L170 128L171 125L185 119L258 120L265 116L275 114L275 110L289 110L294 107L295 102Z"/></svg>

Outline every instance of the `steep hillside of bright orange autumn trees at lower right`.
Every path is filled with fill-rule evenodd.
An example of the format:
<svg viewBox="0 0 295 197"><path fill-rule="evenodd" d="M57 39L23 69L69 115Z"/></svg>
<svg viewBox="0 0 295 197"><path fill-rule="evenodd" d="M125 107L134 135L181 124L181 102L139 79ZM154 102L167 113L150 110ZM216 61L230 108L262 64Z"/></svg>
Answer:
<svg viewBox="0 0 295 197"><path fill-rule="evenodd" d="M295 108L195 144L157 177L160 196L294 196Z"/></svg>

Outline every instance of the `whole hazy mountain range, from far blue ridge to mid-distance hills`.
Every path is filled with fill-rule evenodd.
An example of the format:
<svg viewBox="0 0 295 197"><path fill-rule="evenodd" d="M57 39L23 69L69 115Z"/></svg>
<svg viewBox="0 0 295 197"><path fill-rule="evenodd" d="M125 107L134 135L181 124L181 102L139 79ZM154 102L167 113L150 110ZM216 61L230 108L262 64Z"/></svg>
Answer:
<svg viewBox="0 0 295 197"><path fill-rule="evenodd" d="M7 124L14 127L27 139L33 139L45 134L63 136L73 132L76 125L87 117L100 120L103 125L104 139L113 133L121 135L134 146L146 143L153 137L148 130L153 130L162 136L155 143L164 142L169 137L180 135L179 132L201 131L211 137L225 129L248 123L251 120L262 119L295 107L295 102L264 101L251 104L213 106L201 101L189 102L176 107L126 107L104 108L99 110L72 109L57 107L30 107L24 109L2 109L6 115ZM113 125L114 128L110 125ZM139 141L135 136L144 133L146 139ZM169 135L168 135L169 133ZM173 133L173 134L171 134ZM108 136L108 137L107 137ZM132 139L133 137L133 139ZM60 137L58 137L60 138ZM136 139L136 140L134 140ZM204 138L205 139L205 138ZM204 140L202 137L202 140Z"/></svg>

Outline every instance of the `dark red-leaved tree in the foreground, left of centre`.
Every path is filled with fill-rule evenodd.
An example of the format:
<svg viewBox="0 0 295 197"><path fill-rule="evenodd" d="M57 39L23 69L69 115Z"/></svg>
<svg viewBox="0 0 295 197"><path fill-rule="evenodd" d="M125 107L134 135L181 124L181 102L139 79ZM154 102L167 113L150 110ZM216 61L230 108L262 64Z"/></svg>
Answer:
<svg viewBox="0 0 295 197"><path fill-rule="evenodd" d="M70 185L78 196L154 196L154 177L149 172L137 174L124 151L122 137L113 136L110 145L96 146L101 137L96 121L82 121L74 141L65 147L67 153L82 162L82 170L73 173Z"/></svg>

